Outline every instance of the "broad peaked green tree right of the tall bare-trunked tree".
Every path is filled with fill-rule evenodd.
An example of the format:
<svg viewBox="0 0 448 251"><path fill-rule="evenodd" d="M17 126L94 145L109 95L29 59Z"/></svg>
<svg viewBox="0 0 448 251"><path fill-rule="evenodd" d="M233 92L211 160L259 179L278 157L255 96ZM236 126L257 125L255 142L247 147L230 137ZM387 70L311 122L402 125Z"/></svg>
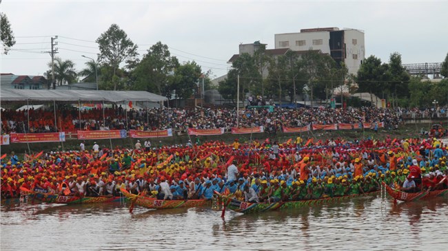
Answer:
<svg viewBox="0 0 448 251"><path fill-rule="evenodd" d="M178 66L179 61L175 56L171 56L168 46L159 41L147 50L147 54L143 55L143 59L132 72L132 89L167 95L174 80L174 69Z"/></svg>

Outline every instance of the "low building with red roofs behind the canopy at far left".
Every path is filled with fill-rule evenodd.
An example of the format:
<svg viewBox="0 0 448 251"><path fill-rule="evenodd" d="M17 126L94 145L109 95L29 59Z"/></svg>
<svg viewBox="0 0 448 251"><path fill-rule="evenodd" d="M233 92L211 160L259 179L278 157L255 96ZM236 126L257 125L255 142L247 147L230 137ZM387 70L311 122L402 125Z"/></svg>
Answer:
<svg viewBox="0 0 448 251"><path fill-rule="evenodd" d="M1 89L47 89L48 80L43 76L0 74Z"/></svg>

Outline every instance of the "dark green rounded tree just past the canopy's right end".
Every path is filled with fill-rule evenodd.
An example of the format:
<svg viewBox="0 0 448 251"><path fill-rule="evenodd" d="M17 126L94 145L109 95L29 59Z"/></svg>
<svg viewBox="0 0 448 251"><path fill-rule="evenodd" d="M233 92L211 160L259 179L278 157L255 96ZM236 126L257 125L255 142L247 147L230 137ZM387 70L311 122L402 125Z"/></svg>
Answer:
<svg viewBox="0 0 448 251"><path fill-rule="evenodd" d="M201 75L201 66L194 61L179 65L174 69L174 81L170 85L170 94L174 92L176 100L190 98L198 88L197 84Z"/></svg>

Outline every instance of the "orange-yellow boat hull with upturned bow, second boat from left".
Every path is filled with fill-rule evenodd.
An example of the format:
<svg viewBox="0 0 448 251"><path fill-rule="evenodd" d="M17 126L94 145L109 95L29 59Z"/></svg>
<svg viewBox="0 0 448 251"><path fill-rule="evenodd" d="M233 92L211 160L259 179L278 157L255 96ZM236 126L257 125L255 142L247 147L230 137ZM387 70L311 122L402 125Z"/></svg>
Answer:
<svg viewBox="0 0 448 251"><path fill-rule="evenodd" d="M169 209L194 208L196 206L206 206L208 204L212 204L212 201L207 199L156 199L146 195L134 195L123 188L121 188L121 193L123 193L123 195L131 202L130 212L132 212L134 205L150 209Z"/></svg>

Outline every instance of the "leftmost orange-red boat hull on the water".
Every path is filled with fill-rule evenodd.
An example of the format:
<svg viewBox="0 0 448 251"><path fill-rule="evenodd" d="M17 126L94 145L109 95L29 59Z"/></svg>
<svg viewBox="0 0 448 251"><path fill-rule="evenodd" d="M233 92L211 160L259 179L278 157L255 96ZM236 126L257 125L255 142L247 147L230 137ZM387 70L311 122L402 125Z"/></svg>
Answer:
<svg viewBox="0 0 448 251"><path fill-rule="evenodd" d="M54 193L41 193L37 191L32 191L27 188L20 188L24 193L28 193L32 197L30 199L37 199L45 203L52 204L93 204L93 203L112 203L112 202L124 202L125 197L114 197L114 196L98 196L98 197L79 197L79 196L68 196L68 195L58 195Z"/></svg>

